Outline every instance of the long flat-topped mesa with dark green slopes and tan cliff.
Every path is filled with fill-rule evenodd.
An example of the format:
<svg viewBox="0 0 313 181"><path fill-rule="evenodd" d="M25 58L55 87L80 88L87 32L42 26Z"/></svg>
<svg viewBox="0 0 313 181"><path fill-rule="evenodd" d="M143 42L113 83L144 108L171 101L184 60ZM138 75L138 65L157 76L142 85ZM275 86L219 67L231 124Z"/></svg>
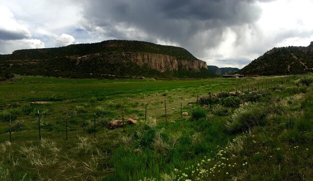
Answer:
<svg viewBox="0 0 313 181"><path fill-rule="evenodd" d="M187 50L143 41L107 40L0 55L7 73L70 78L209 77Z"/></svg>

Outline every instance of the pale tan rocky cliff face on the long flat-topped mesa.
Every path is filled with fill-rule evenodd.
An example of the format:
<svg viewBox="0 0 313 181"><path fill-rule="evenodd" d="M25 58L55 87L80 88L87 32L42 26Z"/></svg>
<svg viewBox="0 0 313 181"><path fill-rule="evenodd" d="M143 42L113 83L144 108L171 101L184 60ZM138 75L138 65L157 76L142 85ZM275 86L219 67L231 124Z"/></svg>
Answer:
<svg viewBox="0 0 313 181"><path fill-rule="evenodd" d="M160 72L166 70L174 71L178 69L198 72L201 68L207 69L206 62L201 60L177 60L176 57L158 53L124 52L121 53L121 55L139 66L148 66Z"/></svg>

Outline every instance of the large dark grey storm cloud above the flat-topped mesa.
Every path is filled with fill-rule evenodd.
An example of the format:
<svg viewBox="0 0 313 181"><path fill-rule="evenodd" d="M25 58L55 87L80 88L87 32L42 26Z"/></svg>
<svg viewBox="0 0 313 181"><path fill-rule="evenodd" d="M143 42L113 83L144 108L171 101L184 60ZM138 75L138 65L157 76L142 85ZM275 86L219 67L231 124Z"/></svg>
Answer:
<svg viewBox="0 0 313 181"><path fill-rule="evenodd" d="M105 37L169 41L201 56L225 28L253 23L260 13L255 0L93 0L82 24Z"/></svg>

